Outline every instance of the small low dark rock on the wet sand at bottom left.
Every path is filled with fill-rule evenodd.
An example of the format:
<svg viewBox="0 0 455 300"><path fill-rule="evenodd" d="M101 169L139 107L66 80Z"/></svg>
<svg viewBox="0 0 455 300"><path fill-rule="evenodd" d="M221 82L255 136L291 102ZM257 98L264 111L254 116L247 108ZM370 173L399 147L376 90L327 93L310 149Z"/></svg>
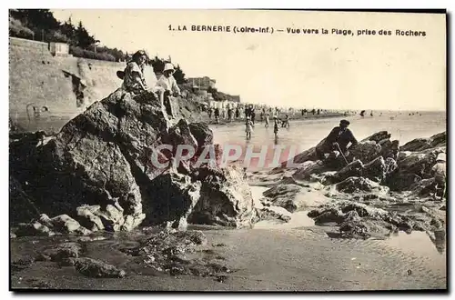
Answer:
<svg viewBox="0 0 455 300"><path fill-rule="evenodd" d="M100 260L80 257L73 259L76 270L82 275L94 278L123 278L126 272L114 265L106 264Z"/></svg>

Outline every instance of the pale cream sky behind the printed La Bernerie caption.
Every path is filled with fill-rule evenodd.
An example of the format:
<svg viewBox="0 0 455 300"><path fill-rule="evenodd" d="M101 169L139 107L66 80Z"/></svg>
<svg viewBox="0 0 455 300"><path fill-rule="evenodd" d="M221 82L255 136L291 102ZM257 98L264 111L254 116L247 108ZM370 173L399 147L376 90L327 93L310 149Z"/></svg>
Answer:
<svg viewBox="0 0 455 300"><path fill-rule="evenodd" d="M101 45L146 49L207 75L242 102L326 109L445 110L445 15L253 10L53 10L82 21ZM169 25L186 31L169 30ZM192 25L274 28L274 33L192 31ZM319 34L288 34L287 28ZM321 34L321 28L329 30ZM278 32L277 30L284 30ZM332 29L354 35L335 35ZM379 30L391 35L379 35ZM398 36L396 30L424 31ZM357 35L375 30L376 35Z"/></svg>

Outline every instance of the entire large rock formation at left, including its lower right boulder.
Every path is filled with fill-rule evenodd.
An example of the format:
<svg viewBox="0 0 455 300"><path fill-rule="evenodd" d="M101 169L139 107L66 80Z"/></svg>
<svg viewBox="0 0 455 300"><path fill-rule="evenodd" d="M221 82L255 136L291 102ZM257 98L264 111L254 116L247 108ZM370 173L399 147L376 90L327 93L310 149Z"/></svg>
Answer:
<svg viewBox="0 0 455 300"><path fill-rule="evenodd" d="M169 118L155 94L118 89L58 134L12 142L10 171L22 184L18 195L30 199L22 196L21 203L47 215L73 216L92 230L100 227L95 216L110 230L130 230L143 220L185 227L191 213L216 224L248 225L255 210L241 176L206 172L207 164L191 175L189 164L168 164L175 162L178 145L201 153L213 147L212 140L207 125ZM158 145L172 148L158 153ZM83 205L93 209L76 210Z"/></svg>

